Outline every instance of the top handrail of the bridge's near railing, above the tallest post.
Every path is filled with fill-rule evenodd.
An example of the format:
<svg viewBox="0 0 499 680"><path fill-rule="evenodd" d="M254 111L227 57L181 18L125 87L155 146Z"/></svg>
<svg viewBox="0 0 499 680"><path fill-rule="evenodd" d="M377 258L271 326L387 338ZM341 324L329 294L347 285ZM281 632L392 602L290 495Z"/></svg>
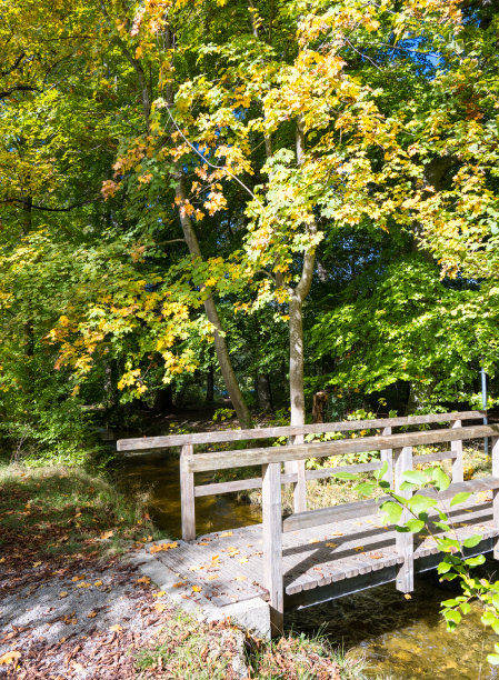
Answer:
<svg viewBox="0 0 499 680"><path fill-rule="evenodd" d="M493 437L499 433L499 426L472 426L468 428L427 430L423 432L406 432L389 437L363 437L319 443L308 443L286 447L270 447L220 451L202 453L188 460L190 472L206 472L212 470L227 470L228 468L243 468L246 466L268 464L271 462L286 462L305 458L325 458L327 456L342 456L346 453L360 453L381 450L388 447L403 448L420 444L440 443L457 439L478 439Z"/></svg>

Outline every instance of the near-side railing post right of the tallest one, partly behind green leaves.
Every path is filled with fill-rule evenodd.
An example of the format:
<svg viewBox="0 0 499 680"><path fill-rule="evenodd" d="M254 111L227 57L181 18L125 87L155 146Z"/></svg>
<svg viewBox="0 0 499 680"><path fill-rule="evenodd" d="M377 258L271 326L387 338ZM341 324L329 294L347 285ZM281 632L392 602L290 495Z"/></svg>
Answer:
<svg viewBox="0 0 499 680"><path fill-rule="evenodd" d="M403 498L410 498L412 492L401 490L403 482L403 473L412 470L412 447L403 447L403 449L395 450L395 490ZM407 522L411 514L409 510L403 509L400 523ZM396 534L396 548L399 556L403 558L403 563L400 564L396 586L401 592L412 592L415 589L415 557L413 557L413 537L410 531L399 532Z"/></svg>

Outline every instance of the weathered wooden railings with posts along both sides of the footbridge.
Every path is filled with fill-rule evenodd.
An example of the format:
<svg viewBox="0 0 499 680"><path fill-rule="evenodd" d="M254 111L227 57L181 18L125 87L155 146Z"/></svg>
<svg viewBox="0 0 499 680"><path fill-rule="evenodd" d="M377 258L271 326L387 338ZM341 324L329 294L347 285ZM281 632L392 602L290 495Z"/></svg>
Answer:
<svg viewBox="0 0 499 680"><path fill-rule="evenodd" d="M388 463L385 477L400 494L403 473L412 470L415 464L433 462L443 459L452 460L452 484L441 497L448 498L459 491L493 490L493 519L499 527L499 426L463 427L463 420L477 420L486 416L483 411L465 411L459 413L437 413L407 418L386 418L379 420L343 421L300 427L261 428L255 430L236 430L223 432L203 432L167 437L121 440L120 451L148 451L157 448L181 446L180 481L182 537L184 540L196 538L196 497L228 493L243 489L262 489L263 516L263 556L266 566L266 587L269 591L272 629L282 628L283 616L283 573L282 573L282 533L297 531L320 524L359 518L377 511L380 499L346 503L319 510L295 512L282 520L281 484L297 481L297 473L282 474L282 463L303 461L307 458L329 458L359 452L380 452L380 460L367 463L339 466L336 468L310 470L306 479L330 477L338 471L366 472L378 470ZM395 428L408 426L451 423L450 428L423 430L416 432L393 432ZM228 450L194 454L196 444L241 441L252 439L271 439L282 436L296 437L325 432L355 432L359 430L380 429L381 434L346 438L341 440L292 443L287 446L267 446L244 450ZM492 438L492 477L463 481L462 441ZM437 453L413 456L413 447L450 443L450 450ZM197 472L214 472L233 468L261 466L261 477L246 480L194 484ZM403 518L402 518L403 519ZM411 533L397 533L396 549L403 558L397 574L397 588L403 592L413 589L413 540ZM496 548L499 557L499 548Z"/></svg>

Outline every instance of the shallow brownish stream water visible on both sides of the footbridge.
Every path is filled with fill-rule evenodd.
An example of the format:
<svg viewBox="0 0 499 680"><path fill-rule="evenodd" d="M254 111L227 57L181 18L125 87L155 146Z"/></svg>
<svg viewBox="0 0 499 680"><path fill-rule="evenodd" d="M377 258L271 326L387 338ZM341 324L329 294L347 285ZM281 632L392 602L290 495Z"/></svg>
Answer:
<svg viewBox="0 0 499 680"><path fill-rule="evenodd" d="M121 462L117 480L129 496L147 493L157 526L171 538L180 536L178 456L158 452L130 457ZM196 516L199 533L261 521L258 509L230 494L197 499ZM452 593L457 593L452 584L443 586L435 573L428 573L417 579L411 599L405 599L390 583L290 612L287 626L296 632L320 631L335 647L363 657L372 678L499 679L498 670L486 660L497 636L483 629L478 606L456 632L446 631L440 601Z"/></svg>

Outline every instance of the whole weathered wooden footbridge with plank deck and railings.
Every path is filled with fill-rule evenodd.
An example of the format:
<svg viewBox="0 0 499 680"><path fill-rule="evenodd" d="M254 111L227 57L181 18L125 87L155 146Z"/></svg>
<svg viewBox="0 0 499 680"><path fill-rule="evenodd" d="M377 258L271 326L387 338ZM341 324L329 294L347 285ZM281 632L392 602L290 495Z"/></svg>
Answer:
<svg viewBox="0 0 499 680"><path fill-rule="evenodd" d="M449 459L452 483L446 491L436 493L439 504L450 516L457 538L481 534L481 542L468 550L469 556L493 550L499 558L499 426L472 424L485 417L482 411L466 411L148 437L120 440L118 450L137 454L181 447L182 540L172 549L160 550L158 546L158 559L178 574L177 587L189 596L191 590L202 592L214 606L263 598L269 602L272 632L277 634L282 630L285 607L308 607L389 581L407 593L413 590L415 572L433 569L441 557L431 537L400 533L383 526L378 511L379 498L307 510L308 480L340 471L372 472L386 461L385 479L407 497L408 492L400 490L406 471ZM343 432L345 438L303 441L306 436L326 432ZM288 443L272 446L277 438L288 438ZM490 438L492 474L465 481L462 442L483 438ZM223 442L230 447L230 442L256 439L267 440L267 446L194 453L196 446L213 448ZM418 451L421 446L437 452ZM305 467L305 459L351 453L368 453L369 461L319 470ZM219 470L250 466L261 466L261 477L194 483L199 472L214 474ZM293 486L295 512L286 518L282 517L282 484ZM196 539L196 498L257 488L262 489L262 524ZM469 491L472 496L449 509L448 501L459 491ZM429 496L430 491L423 493ZM309 500L313 503L313 499ZM435 534L439 533L435 528Z"/></svg>

